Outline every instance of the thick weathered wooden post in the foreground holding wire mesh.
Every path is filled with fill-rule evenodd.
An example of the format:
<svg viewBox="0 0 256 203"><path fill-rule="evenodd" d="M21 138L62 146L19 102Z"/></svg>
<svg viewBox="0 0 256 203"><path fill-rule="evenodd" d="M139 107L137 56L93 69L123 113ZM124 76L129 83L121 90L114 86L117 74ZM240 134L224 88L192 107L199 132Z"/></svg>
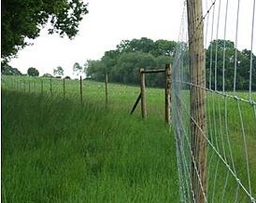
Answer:
<svg viewBox="0 0 256 203"><path fill-rule="evenodd" d="M192 189L195 202L203 203L206 202L206 66L202 0L187 0L187 11L192 84Z"/></svg>

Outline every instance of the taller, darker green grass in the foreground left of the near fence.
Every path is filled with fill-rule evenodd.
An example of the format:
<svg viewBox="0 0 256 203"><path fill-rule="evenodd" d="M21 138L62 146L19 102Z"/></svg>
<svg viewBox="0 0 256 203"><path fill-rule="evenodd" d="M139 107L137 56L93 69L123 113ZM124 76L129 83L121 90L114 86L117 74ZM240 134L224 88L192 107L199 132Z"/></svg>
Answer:
<svg viewBox="0 0 256 203"><path fill-rule="evenodd" d="M87 102L2 91L4 202L175 202L163 120Z"/></svg>

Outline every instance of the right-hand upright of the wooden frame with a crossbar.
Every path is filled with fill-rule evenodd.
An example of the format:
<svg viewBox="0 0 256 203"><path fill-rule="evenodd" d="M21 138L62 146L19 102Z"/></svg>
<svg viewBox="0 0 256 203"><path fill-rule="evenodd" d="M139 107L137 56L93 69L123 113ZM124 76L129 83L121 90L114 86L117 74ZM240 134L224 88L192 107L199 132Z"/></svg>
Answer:
<svg viewBox="0 0 256 203"><path fill-rule="evenodd" d="M165 123L171 123L171 65L165 65Z"/></svg>

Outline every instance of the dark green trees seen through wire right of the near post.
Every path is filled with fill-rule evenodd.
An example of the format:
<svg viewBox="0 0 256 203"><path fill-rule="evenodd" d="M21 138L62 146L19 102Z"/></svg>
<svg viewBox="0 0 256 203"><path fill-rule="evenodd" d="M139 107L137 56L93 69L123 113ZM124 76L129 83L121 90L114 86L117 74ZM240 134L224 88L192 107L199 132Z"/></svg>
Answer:
<svg viewBox="0 0 256 203"><path fill-rule="evenodd" d="M225 45L224 45L225 44ZM225 47L225 59L223 61L223 51ZM236 57L236 89L249 89L249 67L250 53L248 49L237 50ZM217 55L216 55L217 54ZM217 57L216 57L217 56ZM252 54L252 89L256 90L256 57ZM224 64L223 64L224 63ZM206 49L206 85L207 87L222 89L222 67L224 65L225 89L234 88L235 74L235 46L234 42L229 40L214 40ZM215 68L217 78L215 78ZM211 77L211 81L209 80Z"/></svg>

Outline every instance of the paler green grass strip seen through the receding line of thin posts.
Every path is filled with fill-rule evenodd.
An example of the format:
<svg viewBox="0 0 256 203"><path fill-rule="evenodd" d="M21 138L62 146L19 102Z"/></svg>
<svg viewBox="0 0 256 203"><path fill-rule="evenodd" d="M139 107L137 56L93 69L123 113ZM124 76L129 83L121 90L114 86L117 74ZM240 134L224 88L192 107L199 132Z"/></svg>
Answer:
<svg viewBox="0 0 256 203"><path fill-rule="evenodd" d="M80 83L80 79L2 75L3 89L73 100L78 103L82 100L84 104L94 102L100 106L107 106L113 111L121 110L129 114L140 93L140 88L115 83L107 83L107 87L106 95L106 84L91 79L82 78ZM147 88L146 91L149 117L157 116L159 119L164 119L164 88ZM140 114L140 108L136 108L135 116Z"/></svg>

